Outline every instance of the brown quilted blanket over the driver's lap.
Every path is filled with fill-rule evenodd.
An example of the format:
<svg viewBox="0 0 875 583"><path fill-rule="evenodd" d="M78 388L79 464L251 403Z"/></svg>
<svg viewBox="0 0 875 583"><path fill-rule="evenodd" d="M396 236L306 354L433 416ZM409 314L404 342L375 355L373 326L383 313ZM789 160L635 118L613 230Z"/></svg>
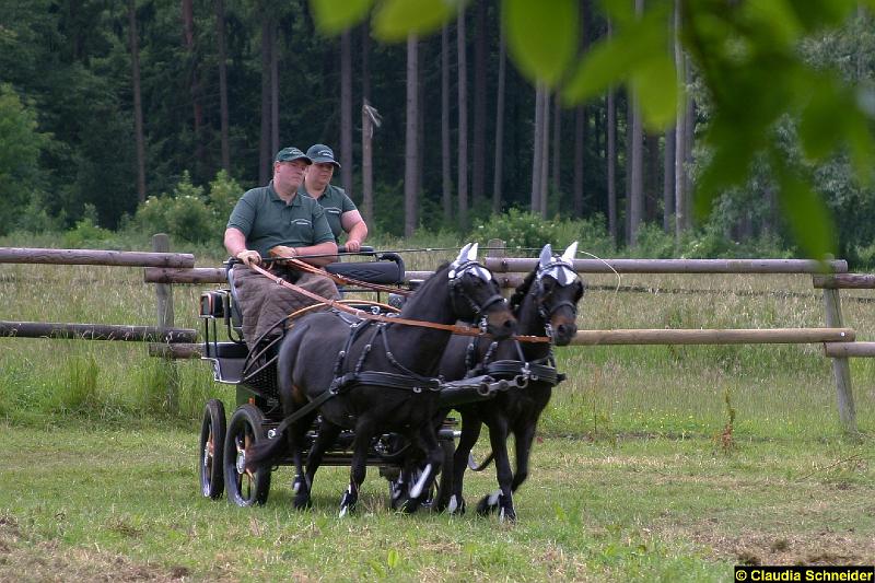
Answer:
<svg viewBox="0 0 875 583"><path fill-rule="evenodd" d="M340 298L334 282L325 276L302 273L294 284L328 300ZM285 316L316 303L315 300L283 288L244 265L234 266L234 289L243 314L243 338L250 350L262 334ZM276 334L281 334L281 330L282 328L277 327Z"/></svg>

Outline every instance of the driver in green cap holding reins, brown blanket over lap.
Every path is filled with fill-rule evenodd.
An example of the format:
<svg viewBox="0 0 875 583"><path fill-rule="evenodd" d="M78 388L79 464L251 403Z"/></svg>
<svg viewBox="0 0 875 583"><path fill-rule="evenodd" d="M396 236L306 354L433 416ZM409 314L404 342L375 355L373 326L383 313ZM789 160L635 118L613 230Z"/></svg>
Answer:
<svg viewBox="0 0 875 583"><path fill-rule="evenodd" d="M243 337L252 350L259 339L282 334L277 326L288 314L315 303L298 292L277 285L248 266L262 257L298 257L324 266L337 260L337 244L323 208L312 198L299 196L304 172L312 163L298 148L283 148L273 160L273 179L267 186L248 190L237 201L225 229L228 253L245 265L234 266L234 289L243 314ZM287 270L275 264L275 272L293 279L326 299L337 299L337 288L328 278Z"/></svg>

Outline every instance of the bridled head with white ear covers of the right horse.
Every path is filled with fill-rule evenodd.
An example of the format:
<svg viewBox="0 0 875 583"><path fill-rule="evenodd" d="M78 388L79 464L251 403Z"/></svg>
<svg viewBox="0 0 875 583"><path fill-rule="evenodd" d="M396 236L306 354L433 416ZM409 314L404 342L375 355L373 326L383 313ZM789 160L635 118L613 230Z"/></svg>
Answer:
<svg viewBox="0 0 875 583"><path fill-rule="evenodd" d="M575 241L560 255L550 244L544 246L535 272L538 314L548 336L557 346L567 346L578 333L578 302L583 298L583 282L574 271Z"/></svg>

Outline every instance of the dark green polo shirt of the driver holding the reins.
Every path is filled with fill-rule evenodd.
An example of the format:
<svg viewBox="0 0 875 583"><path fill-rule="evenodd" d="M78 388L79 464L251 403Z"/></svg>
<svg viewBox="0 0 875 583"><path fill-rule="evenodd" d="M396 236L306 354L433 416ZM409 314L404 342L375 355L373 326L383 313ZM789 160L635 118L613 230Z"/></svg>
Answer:
<svg viewBox="0 0 875 583"><path fill-rule="evenodd" d="M287 205L273 182L253 188L237 201L228 226L238 229L246 236L246 247L261 257L277 245L310 247L334 241L325 211L310 197L296 195Z"/></svg>

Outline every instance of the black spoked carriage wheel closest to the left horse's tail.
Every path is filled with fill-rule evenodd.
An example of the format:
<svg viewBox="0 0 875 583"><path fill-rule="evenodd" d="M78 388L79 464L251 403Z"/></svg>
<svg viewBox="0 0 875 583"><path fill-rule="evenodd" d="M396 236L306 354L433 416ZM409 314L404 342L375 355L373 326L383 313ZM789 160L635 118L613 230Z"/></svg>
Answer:
<svg viewBox="0 0 875 583"><path fill-rule="evenodd" d="M224 474L228 500L238 506L261 505L270 491L270 468L246 471L246 447L266 439L265 415L252 404L237 408L228 423Z"/></svg>

